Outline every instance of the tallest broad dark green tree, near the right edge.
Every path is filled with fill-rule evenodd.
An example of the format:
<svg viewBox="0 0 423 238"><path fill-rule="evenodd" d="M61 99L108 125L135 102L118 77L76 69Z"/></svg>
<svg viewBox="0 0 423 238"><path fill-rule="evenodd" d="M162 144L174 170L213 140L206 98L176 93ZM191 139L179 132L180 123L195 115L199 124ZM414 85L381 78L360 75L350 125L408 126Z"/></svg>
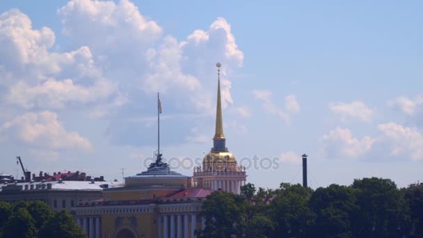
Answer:
<svg viewBox="0 0 423 238"><path fill-rule="evenodd" d="M358 189L358 212L354 215L354 237L400 237L410 226L410 211L403 193L389 179L377 177L354 180Z"/></svg>

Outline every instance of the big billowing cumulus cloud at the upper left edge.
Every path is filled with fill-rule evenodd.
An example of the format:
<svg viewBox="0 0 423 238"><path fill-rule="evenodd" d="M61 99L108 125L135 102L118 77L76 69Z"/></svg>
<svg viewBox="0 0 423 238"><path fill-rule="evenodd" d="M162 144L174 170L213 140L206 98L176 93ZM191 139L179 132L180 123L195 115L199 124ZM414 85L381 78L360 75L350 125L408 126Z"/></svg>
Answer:
<svg viewBox="0 0 423 238"><path fill-rule="evenodd" d="M65 109L120 95L116 84L102 77L89 47L49 52L54 41L51 29L32 29L31 19L19 10L0 15L0 84L8 88L5 102L23 109Z"/></svg>

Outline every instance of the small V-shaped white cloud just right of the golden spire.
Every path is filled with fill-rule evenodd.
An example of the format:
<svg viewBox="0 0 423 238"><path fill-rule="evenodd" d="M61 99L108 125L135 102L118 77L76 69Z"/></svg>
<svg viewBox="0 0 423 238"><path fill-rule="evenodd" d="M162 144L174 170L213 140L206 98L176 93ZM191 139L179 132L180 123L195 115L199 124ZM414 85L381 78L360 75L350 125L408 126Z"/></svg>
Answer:
<svg viewBox="0 0 423 238"><path fill-rule="evenodd" d="M279 116L287 125L289 125L289 118L301 111L300 104L296 101L295 95L287 95L285 97L285 108L276 106L271 100L272 93L269 90L253 90L253 95L256 100L262 102L264 111Z"/></svg>

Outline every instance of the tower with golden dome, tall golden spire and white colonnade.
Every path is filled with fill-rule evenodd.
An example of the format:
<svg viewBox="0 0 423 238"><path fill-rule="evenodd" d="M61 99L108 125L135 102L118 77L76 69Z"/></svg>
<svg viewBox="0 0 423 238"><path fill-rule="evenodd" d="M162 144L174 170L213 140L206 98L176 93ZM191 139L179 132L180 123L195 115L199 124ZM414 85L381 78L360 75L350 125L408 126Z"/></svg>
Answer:
<svg viewBox="0 0 423 238"><path fill-rule="evenodd" d="M202 167L194 168L193 182L213 190L239 193L240 187L246 182L246 171L244 167L238 166L237 159L226 148L221 102L221 63L216 63L216 67L218 68L218 83L213 148L205 155Z"/></svg>

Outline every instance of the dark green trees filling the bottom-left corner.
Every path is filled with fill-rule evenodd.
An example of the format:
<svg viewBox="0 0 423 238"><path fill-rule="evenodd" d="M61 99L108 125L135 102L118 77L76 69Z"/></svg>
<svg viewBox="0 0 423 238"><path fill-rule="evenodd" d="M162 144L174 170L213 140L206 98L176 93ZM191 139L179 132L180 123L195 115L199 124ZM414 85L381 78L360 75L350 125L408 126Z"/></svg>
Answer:
<svg viewBox="0 0 423 238"><path fill-rule="evenodd" d="M0 202L0 238L85 238L66 210L54 213L41 201Z"/></svg>

